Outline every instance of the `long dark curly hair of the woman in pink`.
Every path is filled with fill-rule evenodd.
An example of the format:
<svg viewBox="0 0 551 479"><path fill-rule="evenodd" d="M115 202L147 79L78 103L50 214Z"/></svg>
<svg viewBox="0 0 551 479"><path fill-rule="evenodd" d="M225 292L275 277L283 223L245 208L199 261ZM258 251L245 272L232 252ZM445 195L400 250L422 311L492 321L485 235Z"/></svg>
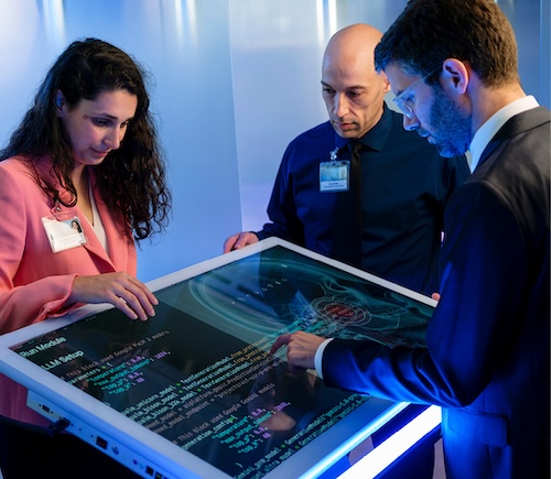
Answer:
<svg viewBox="0 0 551 479"><path fill-rule="evenodd" d="M95 100L105 91L127 90L136 95L138 107L120 148L112 150L95 167L101 197L119 211L137 240L164 230L169 220L171 194L165 183L165 164L149 111L145 73L128 54L101 40L73 42L57 58L39 87L33 107L0 152L0 161L22 155L36 163L44 155L53 160L53 173L72 194L62 202L56 186L36 173L36 181L52 202L74 206L77 192L71 173L74 154L56 113L57 91L68 108L80 100Z"/></svg>

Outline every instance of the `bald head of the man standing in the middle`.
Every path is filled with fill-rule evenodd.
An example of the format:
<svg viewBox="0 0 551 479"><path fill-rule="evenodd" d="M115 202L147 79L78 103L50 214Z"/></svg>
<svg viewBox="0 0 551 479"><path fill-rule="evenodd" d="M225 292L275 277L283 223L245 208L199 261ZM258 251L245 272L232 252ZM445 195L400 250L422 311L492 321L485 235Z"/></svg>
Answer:
<svg viewBox="0 0 551 479"><path fill-rule="evenodd" d="M382 116L390 87L386 75L375 69L374 52L381 37L377 29L358 23L335 33L325 48L323 99L343 138L361 138Z"/></svg>

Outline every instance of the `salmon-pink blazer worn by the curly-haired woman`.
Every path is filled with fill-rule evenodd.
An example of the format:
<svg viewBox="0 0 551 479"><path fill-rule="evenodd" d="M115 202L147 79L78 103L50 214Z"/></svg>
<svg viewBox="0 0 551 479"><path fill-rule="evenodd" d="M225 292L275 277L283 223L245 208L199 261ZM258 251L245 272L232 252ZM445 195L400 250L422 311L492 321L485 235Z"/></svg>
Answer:
<svg viewBox="0 0 551 479"><path fill-rule="evenodd" d="M41 161L41 171L50 171L51 160ZM121 218L109 211L95 187L96 205L104 222L109 255L78 208L62 207L79 217L87 244L54 253L42 225L53 215L32 171L21 157L0 162L0 334L47 317L60 316L79 306L66 306L73 279L126 271L136 275L136 246ZM31 423L45 420L25 407L26 390L0 374L0 414Z"/></svg>

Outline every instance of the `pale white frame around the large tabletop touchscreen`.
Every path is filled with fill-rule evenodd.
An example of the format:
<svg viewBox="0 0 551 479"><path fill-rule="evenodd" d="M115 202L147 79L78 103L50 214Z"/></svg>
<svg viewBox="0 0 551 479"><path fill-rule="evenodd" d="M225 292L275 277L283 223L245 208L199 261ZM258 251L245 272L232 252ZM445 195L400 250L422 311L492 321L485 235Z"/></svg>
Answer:
<svg viewBox="0 0 551 479"><path fill-rule="evenodd" d="M154 292L276 246L288 248L289 250L341 269L388 290L396 291L429 306L435 306L436 304L435 301L426 296L278 238L268 238L241 250L233 251L228 254L216 257L168 274L149 282L148 286ZM229 476L225 472L203 459L134 423L101 401L43 370L11 349L36 336L65 327L71 323L109 309L110 307L112 306L87 305L69 315L51 318L0 336L0 372L21 383L26 389L34 391L47 401L60 404L60 407L68 415L78 417L83 423L94 425L96 429L118 442L125 443L129 448L136 450L137 454L148 458L148 460L159 462L159 459L162 458L162 469L168 473L172 473L175 477L182 477L182 473L185 472L190 477L228 478ZM291 473L292 476L300 473L302 477L314 477L328 468L339 457L352 450L407 406L407 403L391 403L376 398L370 399L369 404L371 417L365 416L365 406L358 407L345 420L342 420L329 431L313 439L312 443L304 446L300 451L288 458L264 477L270 478L280 476L281 473ZM350 424L357 424L358 422L363 422L365 426L356 426L356 431L350 431ZM140 438L139 440L137 439L138 437Z"/></svg>

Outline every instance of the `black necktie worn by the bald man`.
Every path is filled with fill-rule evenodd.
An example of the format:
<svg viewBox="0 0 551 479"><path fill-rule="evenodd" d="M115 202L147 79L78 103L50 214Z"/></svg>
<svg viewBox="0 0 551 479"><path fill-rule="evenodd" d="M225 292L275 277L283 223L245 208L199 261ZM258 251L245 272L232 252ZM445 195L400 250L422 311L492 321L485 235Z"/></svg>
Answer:
<svg viewBox="0 0 551 479"><path fill-rule="evenodd" d="M349 188L336 193L332 257L361 268L361 143L350 141L347 146L350 152Z"/></svg>

